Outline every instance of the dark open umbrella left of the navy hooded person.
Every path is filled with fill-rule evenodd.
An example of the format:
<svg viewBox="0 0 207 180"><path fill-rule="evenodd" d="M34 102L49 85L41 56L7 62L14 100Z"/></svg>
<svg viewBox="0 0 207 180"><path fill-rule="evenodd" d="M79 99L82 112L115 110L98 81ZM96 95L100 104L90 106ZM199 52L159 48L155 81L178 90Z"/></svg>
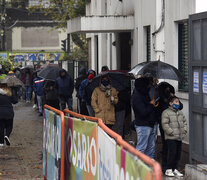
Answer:
<svg viewBox="0 0 207 180"><path fill-rule="evenodd" d="M38 73L38 76L44 78L45 80L55 81L59 76L60 70L61 69L56 66L47 66Z"/></svg>

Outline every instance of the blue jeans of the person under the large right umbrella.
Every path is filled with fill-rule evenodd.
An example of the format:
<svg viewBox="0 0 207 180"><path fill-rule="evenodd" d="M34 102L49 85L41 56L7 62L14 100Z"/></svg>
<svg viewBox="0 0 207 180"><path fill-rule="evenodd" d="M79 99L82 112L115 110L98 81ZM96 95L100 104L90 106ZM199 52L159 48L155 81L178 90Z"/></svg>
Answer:
<svg viewBox="0 0 207 180"><path fill-rule="evenodd" d="M155 131L154 128L148 126L136 126L137 146L136 149L150 158L155 157Z"/></svg>

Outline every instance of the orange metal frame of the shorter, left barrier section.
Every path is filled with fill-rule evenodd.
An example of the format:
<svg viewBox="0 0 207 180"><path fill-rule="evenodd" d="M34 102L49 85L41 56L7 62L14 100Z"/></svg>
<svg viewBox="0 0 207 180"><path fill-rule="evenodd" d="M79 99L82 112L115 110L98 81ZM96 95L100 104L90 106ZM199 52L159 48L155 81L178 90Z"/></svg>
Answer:
<svg viewBox="0 0 207 180"><path fill-rule="evenodd" d="M61 170L60 170L60 179L64 180L64 135L65 135L65 125L64 125L64 113L60 110L57 110L51 106L44 105L45 109L49 109L56 114L60 115L61 118Z"/></svg>

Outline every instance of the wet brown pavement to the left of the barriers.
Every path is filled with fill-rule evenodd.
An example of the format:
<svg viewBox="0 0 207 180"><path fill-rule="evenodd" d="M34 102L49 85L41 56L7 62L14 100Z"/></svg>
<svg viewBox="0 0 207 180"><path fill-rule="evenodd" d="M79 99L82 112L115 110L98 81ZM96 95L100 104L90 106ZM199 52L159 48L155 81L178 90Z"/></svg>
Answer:
<svg viewBox="0 0 207 180"><path fill-rule="evenodd" d="M20 102L14 110L11 146L0 148L0 180L42 180L43 118L32 104Z"/></svg>

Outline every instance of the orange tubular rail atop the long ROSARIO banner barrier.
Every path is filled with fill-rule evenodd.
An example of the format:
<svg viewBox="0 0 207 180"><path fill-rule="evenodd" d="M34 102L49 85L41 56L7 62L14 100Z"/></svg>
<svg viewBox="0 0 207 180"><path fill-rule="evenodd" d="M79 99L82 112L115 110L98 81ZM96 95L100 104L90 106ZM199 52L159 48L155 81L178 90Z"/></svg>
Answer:
<svg viewBox="0 0 207 180"><path fill-rule="evenodd" d="M140 151L136 150L133 146L129 145L126 141L124 141L122 139L122 137L115 133L114 131L112 131L111 129L109 129L102 121L102 119L100 118L95 118L95 117L90 117L90 116L85 116L82 114L78 114L75 113L73 111L70 111L68 109L64 110L65 114L70 114L74 117L80 118L80 119L87 119L90 121L95 121L98 122L98 125L107 133L109 134L111 137L113 137L114 139L116 139L117 143L120 145L121 148L124 148L125 150L131 152L132 154L136 155L137 157L139 157L143 162L145 162L147 165L153 167L154 169L154 173L155 173L155 179L156 180L162 180L162 170L160 167L160 164L158 162L156 162L155 160L151 159L150 157L148 157L147 155L141 153Z"/></svg>

